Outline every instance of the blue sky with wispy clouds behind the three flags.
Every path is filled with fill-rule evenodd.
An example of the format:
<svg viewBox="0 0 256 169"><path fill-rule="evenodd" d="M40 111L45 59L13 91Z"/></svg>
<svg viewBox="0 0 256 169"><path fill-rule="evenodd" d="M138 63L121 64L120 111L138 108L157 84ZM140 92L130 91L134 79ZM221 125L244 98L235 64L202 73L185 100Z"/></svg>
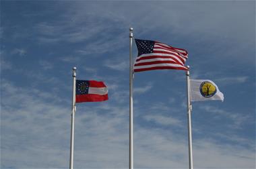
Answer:
<svg viewBox="0 0 256 169"><path fill-rule="evenodd" d="M195 168L255 168L255 1L1 1L1 168L68 168L72 76L109 100L79 103L74 168L128 168L129 27L189 52ZM137 49L133 43L133 57ZM134 167L188 168L183 70L135 74Z"/></svg>

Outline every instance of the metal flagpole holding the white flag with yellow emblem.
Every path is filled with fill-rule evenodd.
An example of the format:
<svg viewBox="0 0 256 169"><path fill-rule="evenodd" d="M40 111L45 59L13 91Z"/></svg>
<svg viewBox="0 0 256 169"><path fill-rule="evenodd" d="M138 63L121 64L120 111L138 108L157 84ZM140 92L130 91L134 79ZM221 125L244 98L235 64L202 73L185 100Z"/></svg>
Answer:
<svg viewBox="0 0 256 169"><path fill-rule="evenodd" d="M189 66L186 72L187 76L187 126L189 136L189 169L193 169L193 154L192 154L192 129L191 129L191 103L190 103L190 79L189 79Z"/></svg>

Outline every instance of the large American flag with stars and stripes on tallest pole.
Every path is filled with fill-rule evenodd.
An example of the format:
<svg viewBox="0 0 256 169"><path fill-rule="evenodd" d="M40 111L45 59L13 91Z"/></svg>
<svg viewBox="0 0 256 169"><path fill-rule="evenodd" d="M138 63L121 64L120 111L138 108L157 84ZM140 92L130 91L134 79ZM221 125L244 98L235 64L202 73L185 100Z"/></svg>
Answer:
<svg viewBox="0 0 256 169"><path fill-rule="evenodd" d="M138 56L133 66L134 72L157 69L188 70L185 61L187 50L174 48L161 42L135 39Z"/></svg>

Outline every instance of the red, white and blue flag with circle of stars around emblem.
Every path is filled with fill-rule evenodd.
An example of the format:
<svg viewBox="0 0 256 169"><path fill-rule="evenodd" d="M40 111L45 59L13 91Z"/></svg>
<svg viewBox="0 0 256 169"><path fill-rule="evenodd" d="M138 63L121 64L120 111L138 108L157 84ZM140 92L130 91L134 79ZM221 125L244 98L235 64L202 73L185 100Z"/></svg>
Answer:
<svg viewBox="0 0 256 169"><path fill-rule="evenodd" d="M75 103L108 100L108 88L96 80L76 80Z"/></svg>

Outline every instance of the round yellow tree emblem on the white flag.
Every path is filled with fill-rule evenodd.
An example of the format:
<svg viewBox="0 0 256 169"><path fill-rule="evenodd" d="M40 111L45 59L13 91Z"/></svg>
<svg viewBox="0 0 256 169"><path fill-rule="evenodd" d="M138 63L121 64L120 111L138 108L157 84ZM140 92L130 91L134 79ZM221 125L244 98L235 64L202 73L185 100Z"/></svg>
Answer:
<svg viewBox="0 0 256 169"><path fill-rule="evenodd" d="M216 86L214 84L212 84L212 82L209 81L205 81L202 82L200 85L200 93L203 97L212 97L216 94L217 89Z"/></svg>

